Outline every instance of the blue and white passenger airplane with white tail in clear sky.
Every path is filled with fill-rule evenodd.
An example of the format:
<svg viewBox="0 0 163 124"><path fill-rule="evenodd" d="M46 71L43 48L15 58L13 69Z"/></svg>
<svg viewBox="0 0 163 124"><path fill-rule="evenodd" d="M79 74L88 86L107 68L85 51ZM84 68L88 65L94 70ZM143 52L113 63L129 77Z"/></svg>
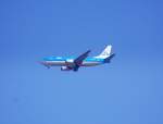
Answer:
<svg viewBox="0 0 163 124"><path fill-rule="evenodd" d="M97 57L88 57L90 50L80 54L77 58L74 57L48 57L43 58L40 63L48 69L51 66L61 66L61 71L74 71L77 72L80 66L96 66L104 63L110 63L115 53L111 53L112 46L109 45Z"/></svg>

